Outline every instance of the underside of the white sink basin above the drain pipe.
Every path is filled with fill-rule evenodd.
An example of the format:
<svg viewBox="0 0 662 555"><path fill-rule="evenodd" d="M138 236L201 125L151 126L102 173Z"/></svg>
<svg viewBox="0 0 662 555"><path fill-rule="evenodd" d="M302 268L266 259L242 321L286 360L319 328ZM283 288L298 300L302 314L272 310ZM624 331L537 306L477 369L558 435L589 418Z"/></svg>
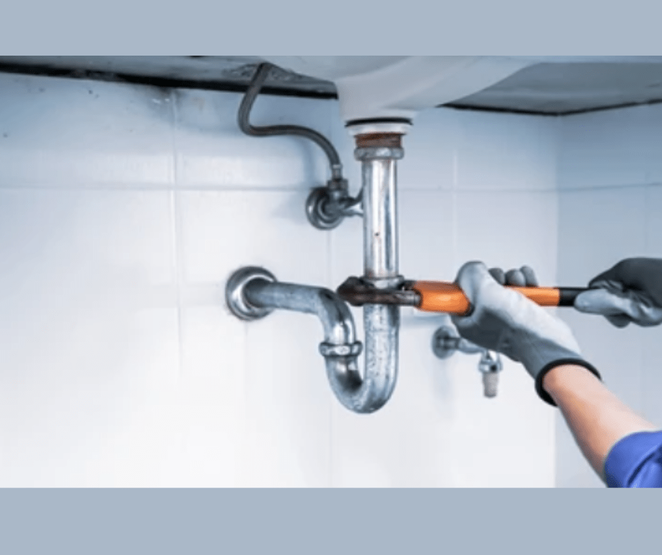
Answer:
<svg viewBox="0 0 662 555"><path fill-rule="evenodd" d="M480 92L536 63L638 61L634 56L263 56L335 82L346 121L411 119L425 108Z"/></svg>

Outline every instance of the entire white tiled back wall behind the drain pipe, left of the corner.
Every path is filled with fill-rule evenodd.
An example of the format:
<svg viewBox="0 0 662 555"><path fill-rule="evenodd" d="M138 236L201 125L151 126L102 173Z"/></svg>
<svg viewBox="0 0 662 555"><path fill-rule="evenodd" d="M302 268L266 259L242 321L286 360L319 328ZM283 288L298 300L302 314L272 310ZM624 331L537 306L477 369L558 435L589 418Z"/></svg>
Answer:
<svg viewBox="0 0 662 555"><path fill-rule="evenodd" d="M227 311L240 266L326 287L362 272L359 218L304 216L328 178L315 145L245 137L238 94L4 75L0 93L0 485L554 484L554 411L508 361L483 398L477 357L432 354L442 318L403 311L394 397L357 416L312 316ZM335 102L265 96L252 121L329 135L358 191ZM399 164L403 273L452 280L482 257L554 280L556 125L421 113Z"/></svg>

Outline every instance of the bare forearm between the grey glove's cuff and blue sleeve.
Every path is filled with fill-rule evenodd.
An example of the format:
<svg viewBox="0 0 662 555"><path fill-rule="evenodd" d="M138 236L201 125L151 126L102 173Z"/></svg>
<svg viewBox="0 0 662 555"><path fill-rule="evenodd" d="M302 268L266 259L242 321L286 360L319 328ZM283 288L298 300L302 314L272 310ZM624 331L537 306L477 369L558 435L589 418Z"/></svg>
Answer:
<svg viewBox="0 0 662 555"><path fill-rule="evenodd" d="M604 461L620 439L636 432L658 430L581 366L550 370L543 386L561 409L582 453L603 480Z"/></svg>

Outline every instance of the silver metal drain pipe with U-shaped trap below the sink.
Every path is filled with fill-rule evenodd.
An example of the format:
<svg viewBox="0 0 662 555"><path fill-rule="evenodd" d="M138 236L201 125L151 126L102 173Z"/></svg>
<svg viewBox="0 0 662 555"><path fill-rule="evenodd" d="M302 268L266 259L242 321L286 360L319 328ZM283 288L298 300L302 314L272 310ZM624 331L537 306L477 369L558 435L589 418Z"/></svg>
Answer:
<svg viewBox="0 0 662 555"><path fill-rule="evenodd" d="M404 156L405 123L356 125L356 159L363 180L363 279L378 289L399 287L396 161ZM241 268L227 282L228 308L244 320L263 318L275 308L318 316L325 331L320 354L337 399L356 413L373 413L390 399L398 373L399 306L366 304L365 369L358 370L361 343L356 342L349 307L320 287L277 282L263 268Z"/></svg>

